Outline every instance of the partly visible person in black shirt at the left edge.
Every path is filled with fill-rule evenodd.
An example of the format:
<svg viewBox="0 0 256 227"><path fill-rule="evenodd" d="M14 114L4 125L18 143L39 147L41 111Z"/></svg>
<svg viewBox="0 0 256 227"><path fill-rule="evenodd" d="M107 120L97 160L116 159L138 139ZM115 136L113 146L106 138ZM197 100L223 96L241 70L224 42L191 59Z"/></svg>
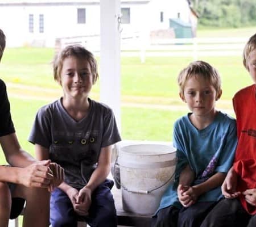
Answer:
<svg viewBox="0 0 256 227"><path fill-rule="evenodd" d="M0 30L0 60L5 34ZM5 83L0 79L0 144L10 166L0 165L0 227L16 218L24 207L24 227L49 226L49 191L64 178L63 169L51 161L36 161L16 137ZM47 190L48 189L48 190Z"/></svg>

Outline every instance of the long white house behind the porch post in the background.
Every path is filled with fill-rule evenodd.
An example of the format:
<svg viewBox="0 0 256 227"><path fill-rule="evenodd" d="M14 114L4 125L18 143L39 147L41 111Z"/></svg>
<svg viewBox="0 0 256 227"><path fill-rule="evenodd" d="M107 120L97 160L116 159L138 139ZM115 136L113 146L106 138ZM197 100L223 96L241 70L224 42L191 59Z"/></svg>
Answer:
<svg viewBox="0 0 256 227"><path fill-rule="evenodd" d="M189 22L188 2L121 0L120 31L148 35L151 31L167 30L170 18ZM0 28L8 37L9 47L53 47L58 37L99 37L100 0L0 0Z"/></svg>

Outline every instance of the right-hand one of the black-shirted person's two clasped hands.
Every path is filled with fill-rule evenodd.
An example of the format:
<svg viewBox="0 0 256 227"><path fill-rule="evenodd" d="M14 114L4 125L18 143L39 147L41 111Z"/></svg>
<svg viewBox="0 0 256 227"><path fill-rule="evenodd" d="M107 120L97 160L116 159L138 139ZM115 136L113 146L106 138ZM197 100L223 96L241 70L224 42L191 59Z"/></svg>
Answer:
<svg viewBox="0 0 256 227"><path fill-rule="evenodd" d="M59 186L64 180L64 169L57 163L49 163L49 168L53 173L53 179L49 184L48 191L51 192L55 187Z"/></svg>

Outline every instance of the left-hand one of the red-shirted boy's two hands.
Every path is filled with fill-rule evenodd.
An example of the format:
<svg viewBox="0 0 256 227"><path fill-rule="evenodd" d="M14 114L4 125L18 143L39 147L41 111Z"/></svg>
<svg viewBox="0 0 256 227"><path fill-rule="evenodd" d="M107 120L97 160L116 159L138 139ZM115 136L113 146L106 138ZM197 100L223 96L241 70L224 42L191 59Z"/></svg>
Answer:
<svg viewBox="0 0 256 227"><path fill-rule="evenodd" d="M237 188L237 173L232 169L229 170L226 178L221 186L222 194L226 199L233 199L241 194L236 191Z"/></svg>

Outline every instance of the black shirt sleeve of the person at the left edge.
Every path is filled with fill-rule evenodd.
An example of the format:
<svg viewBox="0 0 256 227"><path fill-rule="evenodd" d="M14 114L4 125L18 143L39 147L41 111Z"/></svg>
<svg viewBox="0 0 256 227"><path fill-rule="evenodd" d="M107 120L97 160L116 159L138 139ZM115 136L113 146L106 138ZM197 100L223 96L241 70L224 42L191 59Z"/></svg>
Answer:
<svg viewBox="0 0 256 227"><path fill-rule="evenodd" d="M14 133L14 125L11 120L10 103L6 93L5 82L0 79L0 136Z"/></svg>

